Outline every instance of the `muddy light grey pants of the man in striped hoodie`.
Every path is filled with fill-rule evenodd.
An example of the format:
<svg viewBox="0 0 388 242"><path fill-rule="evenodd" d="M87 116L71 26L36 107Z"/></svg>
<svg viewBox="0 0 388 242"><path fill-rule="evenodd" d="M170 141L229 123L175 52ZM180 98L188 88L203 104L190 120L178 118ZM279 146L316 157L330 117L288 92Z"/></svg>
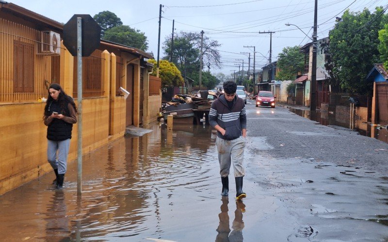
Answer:
<svg viewBox="0 0 388 242"><path fill-rule="evenodd" d="M243 166L244 148L246 139L240 136L233 140L222 139L217 136L216 145L218 151L218 161L220 163L220 175L229 175L230 164L233 164L234 177L243 177L245 170Z"/></svg>

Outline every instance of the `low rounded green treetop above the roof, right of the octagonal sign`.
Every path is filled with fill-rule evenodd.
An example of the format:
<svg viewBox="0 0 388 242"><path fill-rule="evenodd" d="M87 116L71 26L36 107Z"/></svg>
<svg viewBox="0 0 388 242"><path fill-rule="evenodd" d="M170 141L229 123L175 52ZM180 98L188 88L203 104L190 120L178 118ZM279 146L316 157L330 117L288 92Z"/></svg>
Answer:
<svg viewBox="0 0 388 242"><path fill-rule="evenodd" d="M130 28L128 25L119 25L106 30L104 39L144 51L148 48L146 35L140 30Z"/></svg>

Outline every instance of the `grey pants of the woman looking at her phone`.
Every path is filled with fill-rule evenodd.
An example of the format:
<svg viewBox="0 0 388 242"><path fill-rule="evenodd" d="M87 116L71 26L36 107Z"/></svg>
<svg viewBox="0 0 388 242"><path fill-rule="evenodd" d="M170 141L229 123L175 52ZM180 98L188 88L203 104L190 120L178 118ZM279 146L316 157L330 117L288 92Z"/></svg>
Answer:
<svg viewBox="0 0 388 242"><path fill-rule="evenodd" d="M58 174L65 174L67 169L67 155L69 153L70 139L68 138L60 141L48 139L47 141L47 160L53 169L58 169Z"/></svg>

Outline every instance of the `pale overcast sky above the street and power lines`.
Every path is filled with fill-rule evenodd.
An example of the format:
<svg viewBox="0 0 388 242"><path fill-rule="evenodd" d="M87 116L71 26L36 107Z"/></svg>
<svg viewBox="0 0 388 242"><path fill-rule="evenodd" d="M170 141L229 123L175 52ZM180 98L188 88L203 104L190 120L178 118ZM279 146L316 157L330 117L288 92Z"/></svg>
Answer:
<svg viewBox="0 0 388 242"><path fill-rule="evenodd" d="M205 35L217 40L222 46L222 69L210 66L211 73L225 75L238 71L238 64L247 70L248 54L251 52L251 71L253 70L253 48L256 46L256 70L268 63L270 34L259 31L273 31L272 61L286 46L304 45L314 24L314 0L10 0L40 15L58 22L66 23L74 14L89 14L92 17L102 11L116 14L124 25L145 33L148 40L147 52L158 53L159 5L162 4L161 50L167 35L171 37L172 20L175 32L204 30ZM374 12L376 6L386 6L387 0L318 0L318 39L328 36L335 24L335 17L341 16L345 9L352 12L369 8ZM206 67L206 63L204 63ZM204 68L207 70L207 68Z"/></svg>

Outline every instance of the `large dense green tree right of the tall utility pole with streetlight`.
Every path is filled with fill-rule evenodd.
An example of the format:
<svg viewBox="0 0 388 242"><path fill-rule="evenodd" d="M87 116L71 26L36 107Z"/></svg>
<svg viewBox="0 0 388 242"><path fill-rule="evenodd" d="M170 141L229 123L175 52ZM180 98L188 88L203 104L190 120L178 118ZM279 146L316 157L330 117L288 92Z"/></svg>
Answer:
<svg viewBox="0 0 388 242"><path fill-rule="evenodd" d="M383 8L371 14L368 9L342 15L342 20L330 30L330 63L328 70L334 80L348 93L367 94L372 83L365 81L373 63L380 62L378 30L387 23Z"/></svg>

